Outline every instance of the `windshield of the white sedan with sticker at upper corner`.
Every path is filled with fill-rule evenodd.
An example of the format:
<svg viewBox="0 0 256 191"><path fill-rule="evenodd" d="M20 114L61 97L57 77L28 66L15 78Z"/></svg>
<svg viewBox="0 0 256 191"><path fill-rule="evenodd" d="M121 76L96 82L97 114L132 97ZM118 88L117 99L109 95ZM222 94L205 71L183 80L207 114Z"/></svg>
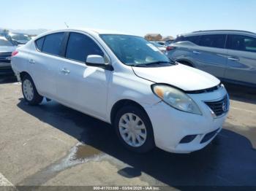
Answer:
<svg viewBox="0 0 256 191"><path fill-rule="evenodd" d="M102 34L116 57L128 66L170 66L170 60L157 47L139 36Z"/></svg>

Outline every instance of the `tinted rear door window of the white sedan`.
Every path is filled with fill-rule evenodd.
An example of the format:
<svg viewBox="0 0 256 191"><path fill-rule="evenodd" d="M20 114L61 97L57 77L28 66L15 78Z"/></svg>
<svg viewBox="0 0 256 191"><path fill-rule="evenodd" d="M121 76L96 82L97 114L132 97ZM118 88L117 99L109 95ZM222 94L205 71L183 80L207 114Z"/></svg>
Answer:
<svg viewBox="0 0 256 191"><path fill-rule="evenodd" d="M45 36L42 52L49 53L51 55L60 55L63 38L64 33L49 34L48 36Z"/></svg>

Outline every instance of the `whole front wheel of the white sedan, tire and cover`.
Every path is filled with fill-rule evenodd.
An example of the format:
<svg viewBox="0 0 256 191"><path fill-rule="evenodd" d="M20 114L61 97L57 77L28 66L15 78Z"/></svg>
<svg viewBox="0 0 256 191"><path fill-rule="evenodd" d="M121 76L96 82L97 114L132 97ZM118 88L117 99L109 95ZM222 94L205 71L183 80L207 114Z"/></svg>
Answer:
<svg viewBox="0 0 256 191"><path fill-rule="evenodd" d="M132 125L132 122L137 125ZM119 109L114 127L121 144L132 152L143 153L154 149L154 133L151 121L146 112L138 106L124 106Z"/></svg>

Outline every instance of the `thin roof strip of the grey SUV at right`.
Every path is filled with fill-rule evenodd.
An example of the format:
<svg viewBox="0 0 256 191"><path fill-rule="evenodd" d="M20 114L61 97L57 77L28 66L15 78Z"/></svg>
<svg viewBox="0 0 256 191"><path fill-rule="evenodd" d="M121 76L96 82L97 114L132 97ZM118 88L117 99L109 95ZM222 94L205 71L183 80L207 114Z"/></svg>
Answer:
<svg viewBox="0 0 256 191"><path fill-rule="evenodd" d="M181 34L179 36L195 36L202 34L240 34L240 35L256 35L255 33L249 31L239 31L239 30L208 30L208 31L194 31L188 34Z"/></svg>

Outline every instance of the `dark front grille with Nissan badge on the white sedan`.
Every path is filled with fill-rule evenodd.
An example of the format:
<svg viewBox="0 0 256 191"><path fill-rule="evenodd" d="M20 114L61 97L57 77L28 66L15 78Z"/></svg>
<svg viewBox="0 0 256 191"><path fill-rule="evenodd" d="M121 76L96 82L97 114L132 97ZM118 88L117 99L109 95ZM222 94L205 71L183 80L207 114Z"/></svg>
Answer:
<svg viewBox="0 0 256 191"><path fill-rule="evenodd" d="M228 100L227 95L225 98L219 101L205 102L206 105L214 112L214 114L218 117L222 114L225 114L228 111Z"/></svg>

